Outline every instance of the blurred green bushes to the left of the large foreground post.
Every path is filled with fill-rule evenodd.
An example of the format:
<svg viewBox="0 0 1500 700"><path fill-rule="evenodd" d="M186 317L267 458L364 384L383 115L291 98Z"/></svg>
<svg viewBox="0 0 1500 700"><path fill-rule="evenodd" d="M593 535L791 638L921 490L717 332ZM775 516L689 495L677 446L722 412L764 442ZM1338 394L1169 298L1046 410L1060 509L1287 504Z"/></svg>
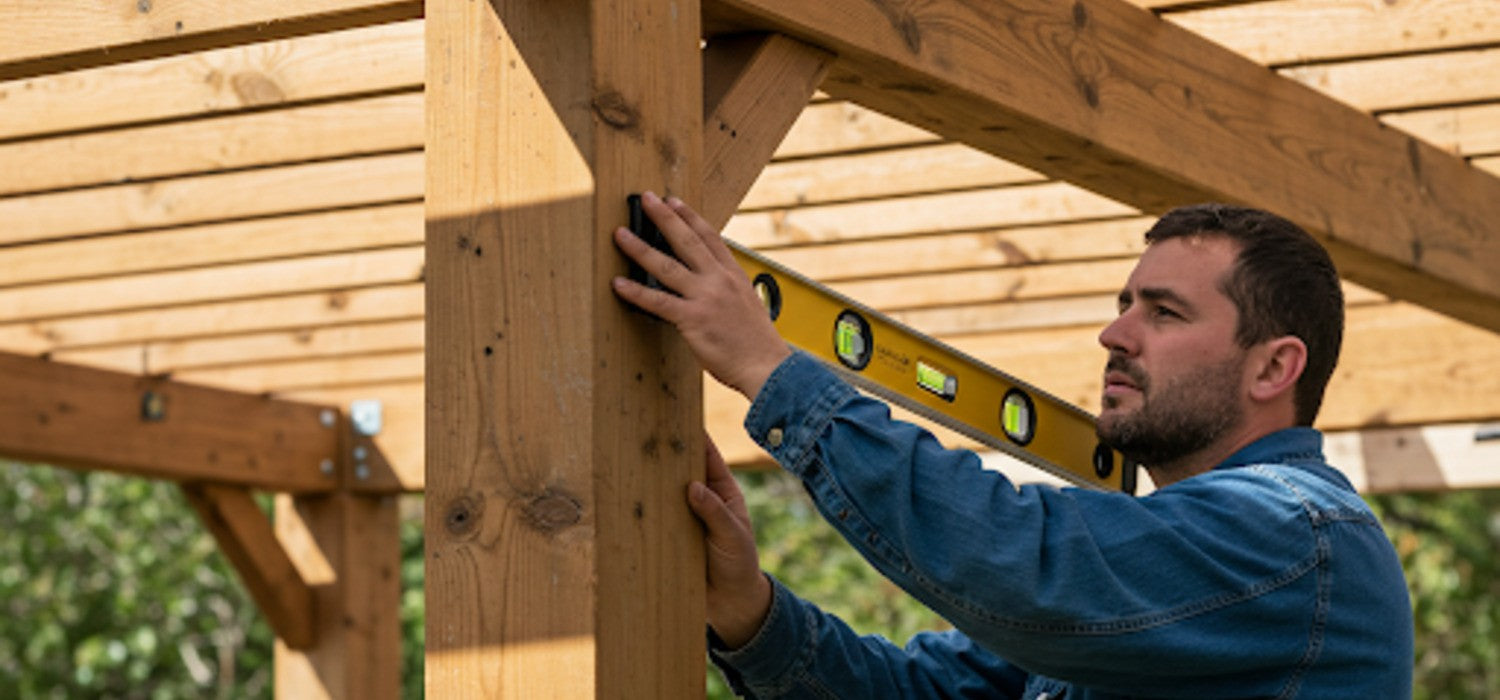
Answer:
<svg viewBox="0 0 1500 700"><path fill-rule="evenodd" d="M0 700L272 697L274 637L176 484L0 460ZM420 519L402 558L420 697Z"/></svg>

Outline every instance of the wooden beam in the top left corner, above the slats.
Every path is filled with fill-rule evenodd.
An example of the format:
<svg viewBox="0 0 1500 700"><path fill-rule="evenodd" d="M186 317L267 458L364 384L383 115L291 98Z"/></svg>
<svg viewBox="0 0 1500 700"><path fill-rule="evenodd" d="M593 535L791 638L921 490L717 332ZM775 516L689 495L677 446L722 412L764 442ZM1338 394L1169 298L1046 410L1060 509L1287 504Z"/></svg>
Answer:
<svg viewBox="0 0 1500 700"><path fill-rule="evenodd" d="M156 58L422 16L414 0L105 0L0 7L0 79Z"/></svg>

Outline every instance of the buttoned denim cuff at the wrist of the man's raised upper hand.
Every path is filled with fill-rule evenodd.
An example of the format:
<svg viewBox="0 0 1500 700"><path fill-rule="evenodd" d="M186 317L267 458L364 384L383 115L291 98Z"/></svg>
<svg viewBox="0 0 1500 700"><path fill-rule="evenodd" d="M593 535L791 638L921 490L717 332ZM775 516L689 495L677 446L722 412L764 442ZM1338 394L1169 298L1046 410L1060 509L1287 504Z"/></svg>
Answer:
<svg viewBox="0 0 1500 700"><path fill-rule="evenodd" d="M858 396L822 361L794 351L760 387L744 427L783 468L801 475L834 414Z"/></svg>

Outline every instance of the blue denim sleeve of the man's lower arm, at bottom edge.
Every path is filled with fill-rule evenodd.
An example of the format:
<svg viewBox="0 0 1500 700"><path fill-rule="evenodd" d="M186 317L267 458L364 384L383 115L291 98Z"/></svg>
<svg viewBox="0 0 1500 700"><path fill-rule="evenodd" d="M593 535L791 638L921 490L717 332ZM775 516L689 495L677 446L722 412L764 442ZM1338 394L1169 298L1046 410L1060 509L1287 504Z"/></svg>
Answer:
<svg viewBox="0 0 1500 700"><path fill-rule="evenodd" d="M957 631L921 633L900 648L861 637L771 583L771 612L750 642L730 651L710 631L710 658L741 697L1018 699L1023 691L1024 672Z"/></svg>

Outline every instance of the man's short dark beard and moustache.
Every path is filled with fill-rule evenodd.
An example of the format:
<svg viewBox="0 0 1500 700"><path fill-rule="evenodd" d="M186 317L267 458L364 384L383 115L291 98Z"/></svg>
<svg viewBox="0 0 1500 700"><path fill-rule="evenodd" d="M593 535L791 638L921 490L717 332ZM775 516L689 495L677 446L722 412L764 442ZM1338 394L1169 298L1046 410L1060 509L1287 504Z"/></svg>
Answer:
<svg viewBox="0 0 1500 700"><path fill-rule="evenodd" d="M1136 382L1142 405L1132 414L1100 418L1096 433L1106 445L1146 466L1168 466L1214 444L1239 424L1239 372L1242 357L1200 367L1150 390L1150 378L1124 357L1110 357L1106 372L1119 370ZM1113 402L1106 397L1106 408Z"/></svg>

